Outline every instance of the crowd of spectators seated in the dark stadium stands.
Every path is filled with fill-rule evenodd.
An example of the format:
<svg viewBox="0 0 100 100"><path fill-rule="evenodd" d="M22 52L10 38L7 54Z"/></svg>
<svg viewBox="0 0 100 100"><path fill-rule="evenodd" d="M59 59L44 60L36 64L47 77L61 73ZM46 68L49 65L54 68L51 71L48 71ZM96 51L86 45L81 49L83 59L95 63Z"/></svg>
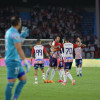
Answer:
<svg viewBox="0 0 100 100"><path fill-rule="evenodd" d="M10 16L19 14L14 7L0 8L0 38L4 38L5 31L10 27ZM30 19L22 19L22 25L29 28L27 38L52 39L59 35L61 38L71 36L70 41L75 42L76 37L80 37L82 43L87 47L83 50L85 57L97 48L97 38L92 35L84 35L82 32L80 9L67 9L63 7L39 7L35 6L30 9ZM3 48L4 49L4 48ZM3 50L1 48L1 51Z"/></svg>

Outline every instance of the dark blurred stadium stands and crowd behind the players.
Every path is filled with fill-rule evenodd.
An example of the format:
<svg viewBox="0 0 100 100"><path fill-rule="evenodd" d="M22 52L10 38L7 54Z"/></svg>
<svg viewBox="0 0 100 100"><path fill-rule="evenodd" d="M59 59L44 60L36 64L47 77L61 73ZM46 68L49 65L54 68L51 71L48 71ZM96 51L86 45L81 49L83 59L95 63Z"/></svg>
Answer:
<svg viewBox="0 0 100 100"><path fill-rule="evenodd" d="M23 45L27 57L31 55L36 40L49 52L49 41L59 35L71 36L70 42L80 37L86 44L83 58L100 58L100 0L0 0L0 57L4 57L5 31L10 27L10 17L20 15L22 25L29 35ZM31 39L31 40L30 40Z"/></svg>

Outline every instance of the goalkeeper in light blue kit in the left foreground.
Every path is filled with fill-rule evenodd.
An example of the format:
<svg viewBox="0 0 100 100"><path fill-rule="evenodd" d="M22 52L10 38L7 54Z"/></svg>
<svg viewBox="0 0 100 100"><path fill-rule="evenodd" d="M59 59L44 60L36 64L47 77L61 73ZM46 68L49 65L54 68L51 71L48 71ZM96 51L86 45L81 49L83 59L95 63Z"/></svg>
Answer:
<svg viewBox="0 0 100 100"><path fill-rule="evenodd" d="M17 100L22 88L26 84L26 75L24 69L21 65L20 58L23 60L26 71L29 72L30 65L26 60L24 52L21 47L21 37L25 38L26 33L19 34L18 30L21 28L21 19L18 16L11 17L11 27L6 31L5 34L5 63L7 67L7 85L5 89L5 100L11 100L12 89L16 82L16 79L19 79L13 96L13 100ZM23 35L25 34L25 35ZM24 36L24 37L23 37Z"/></svg>

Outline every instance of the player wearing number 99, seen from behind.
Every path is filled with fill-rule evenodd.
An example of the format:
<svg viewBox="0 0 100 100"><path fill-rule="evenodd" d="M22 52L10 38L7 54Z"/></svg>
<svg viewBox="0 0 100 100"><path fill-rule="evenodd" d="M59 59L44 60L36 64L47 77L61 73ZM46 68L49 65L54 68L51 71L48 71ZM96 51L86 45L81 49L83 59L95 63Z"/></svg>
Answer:
<svg viewBox="0 0 100 100"><path fill-rule="evenodd" d="M37 71L38 71L38 67L41 68L41 71L42 71L42 76L43 76L43 80L45 80L45 73L44 73L44 58L43 58L43 54L46 54L47 57L49 57L49 54L47 53L47 50L46 48L41 45L41 40L38 39L37 40L37 45L35 45L33 48L32 48L32 52L31 52L31 63L32 63L32 58L33 58L33 55L35 54L35 65L34 65L34 68L35 68L35 84L38 84L38 78L37 78Z"/></svg>

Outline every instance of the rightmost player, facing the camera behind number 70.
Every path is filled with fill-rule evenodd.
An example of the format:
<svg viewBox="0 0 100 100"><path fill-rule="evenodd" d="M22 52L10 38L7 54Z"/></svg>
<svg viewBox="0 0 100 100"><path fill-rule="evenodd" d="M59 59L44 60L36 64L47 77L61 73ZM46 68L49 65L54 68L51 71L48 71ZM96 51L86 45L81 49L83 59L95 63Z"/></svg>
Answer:
<svg viewBox="0 0 100 100"><path fill-rule="evenodd" d="M82 44L80 38L77 38L76 44ZM79 77L79 71L80 71L80 76L82 76L82 48L83 47L86 47L86 45L83 44L81 47L75 48L75 62L76 62L77 77Z"/></svg>

